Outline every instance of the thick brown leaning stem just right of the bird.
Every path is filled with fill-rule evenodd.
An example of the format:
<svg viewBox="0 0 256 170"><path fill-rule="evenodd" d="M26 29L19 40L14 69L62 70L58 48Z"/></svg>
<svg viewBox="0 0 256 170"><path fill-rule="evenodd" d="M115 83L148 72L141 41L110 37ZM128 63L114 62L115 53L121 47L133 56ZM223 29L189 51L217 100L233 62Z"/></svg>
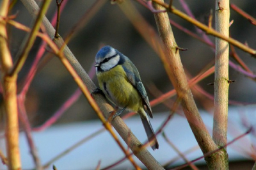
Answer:
<svg viewBox="0 0 256 170"><path fill-rule="evenodd" d="M163 1L161 1L163 2ZM154 3L156 10L163 10L163 7ZM179 50L176 50L177 44L172 33L172 27L168 19L167 13L154 13L157 29L166 51L166 57L161 57L164 67L170 77L173 86L177 91L177 95L181 98L181 104L188 123L195 135L203 153L216 150L217 146L211 139L211 135L207 131L202 118L198 112L195 100L189 89L186 75L180 61Z"/></svg>

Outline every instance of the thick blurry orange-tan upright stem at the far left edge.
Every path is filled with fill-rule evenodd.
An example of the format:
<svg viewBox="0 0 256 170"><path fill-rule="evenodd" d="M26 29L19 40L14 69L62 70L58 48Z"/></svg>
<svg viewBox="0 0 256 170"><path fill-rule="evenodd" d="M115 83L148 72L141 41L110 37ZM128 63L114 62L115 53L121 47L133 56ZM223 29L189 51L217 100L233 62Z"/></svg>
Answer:
<svg viewBox="0 0 256 170"><path fill-rule="evenodd" d="M9 76L12 69L12 56L8 49L6 17L8 15L8 0L1 2L0 16L0 56L3 73L3 95L4 107L6 111L6 150L8 155L8 169L20 169L19 151L19 122L17 111L17 75Z"/></svg>

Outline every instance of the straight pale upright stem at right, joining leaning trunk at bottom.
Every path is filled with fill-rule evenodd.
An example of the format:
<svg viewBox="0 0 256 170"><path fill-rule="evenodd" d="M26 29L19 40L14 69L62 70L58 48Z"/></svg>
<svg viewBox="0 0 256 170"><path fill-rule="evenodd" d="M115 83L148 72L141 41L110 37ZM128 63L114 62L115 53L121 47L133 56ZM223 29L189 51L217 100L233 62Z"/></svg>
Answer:
<svg viewBox="0 0 256 170"><path fill-rule="evenodd" d="M216 31L222 35L229 35L229 1L216 0ZM214 121L212 138L218 146L227 144L228 117L228 42L220 38L215 39L215 78L214 78ZM227 152L219 152L223 158L223 166L228 168Z"/></svg>

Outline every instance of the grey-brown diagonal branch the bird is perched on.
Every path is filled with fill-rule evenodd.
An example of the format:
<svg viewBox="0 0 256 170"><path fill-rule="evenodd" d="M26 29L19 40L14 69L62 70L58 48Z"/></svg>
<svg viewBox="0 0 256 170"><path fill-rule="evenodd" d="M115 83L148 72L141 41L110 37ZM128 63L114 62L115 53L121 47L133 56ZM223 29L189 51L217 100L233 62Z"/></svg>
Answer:
<svg viewBox="0 0 256 170"><path fill-rule="evenodd" d="M24 3L29 13L31 13L31 15L35 15L34 11L38 11L38 6L35 3L35 1L32 1L32 0L21 0L21 1L22 3ZM46 17L43 18L43 24L45 26L47 34L53 38L55 30ZM63 45L63 40L61 37L59 37L58 39L54 39L54 43L56 43L56 45L60 48ZM71 64L68 67L74 68L74 71L75 71L75 72L72 72L72 75L77 73L77 77L74 77L75 81L79 81L80 79L79 77L81 77L81 80L83 82L79 82L79 86L85 85L85 88L86 88L86 89L83 89L82 91L84 92L84 90L86 90L86 93L92 93L92 91L96 88L95 84L93 84L92 80L88 77L87 73L84 71L83 67L79 64L77 59L74 57L70 49L68 49L67 45L65 45L63 49L63 54L65 54L68 61L64 61L66 58L61 58L61 61L65 62L65 65L69 65L69 63ZM91 98L90 95L86 95L86 97L88 97L89 102L91 102L90 100L93 100L93 98ZM101 112L101 111L104 112L104 116L108 118L109 112L114 110L113 107L111 107L106 101L106 99L101 95L95 95L95 101L99 105L99 110L97 109L97 112ZM101 117L100 119L103 120L104 117L103 118ZM116 117L111 123L113 127L116 129L116 131L118 132L118 134L124 139L125 143L129 145L132 151L136 151L138 150L138 148L140 148L141 146L140 141L134 136L134 134L131 133L131 130L129 130L127 125L125 125L122 118ZM108 127L109 125L106 125L106 126ZM148 169L163 169L163 167L161 167L161 165L156 161L154 157L152 157L152 155L146 149L141 150L139 153L135 153L135 155L141 160L141 162L143 162L143 164L145 164L146 167L148 167Z"/></svg>

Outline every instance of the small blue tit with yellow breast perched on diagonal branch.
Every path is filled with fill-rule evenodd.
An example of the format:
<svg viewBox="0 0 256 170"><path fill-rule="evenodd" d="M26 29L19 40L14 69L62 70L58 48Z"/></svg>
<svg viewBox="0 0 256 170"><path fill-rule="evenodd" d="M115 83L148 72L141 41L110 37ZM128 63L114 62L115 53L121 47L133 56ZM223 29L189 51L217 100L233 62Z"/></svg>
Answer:
<svg viewBox="0 0 256 170"><path fill-rule="evenodd" d="M153 118L152 110L136 66L124 54L110 46L102 47L97 52L95 61L100 89L108 100L122 108L113 118L119 116L125 109L137 112L147 133L148 141L154 141L152 149L158 149L159 144L148 118L148 116Z"/></svg>

